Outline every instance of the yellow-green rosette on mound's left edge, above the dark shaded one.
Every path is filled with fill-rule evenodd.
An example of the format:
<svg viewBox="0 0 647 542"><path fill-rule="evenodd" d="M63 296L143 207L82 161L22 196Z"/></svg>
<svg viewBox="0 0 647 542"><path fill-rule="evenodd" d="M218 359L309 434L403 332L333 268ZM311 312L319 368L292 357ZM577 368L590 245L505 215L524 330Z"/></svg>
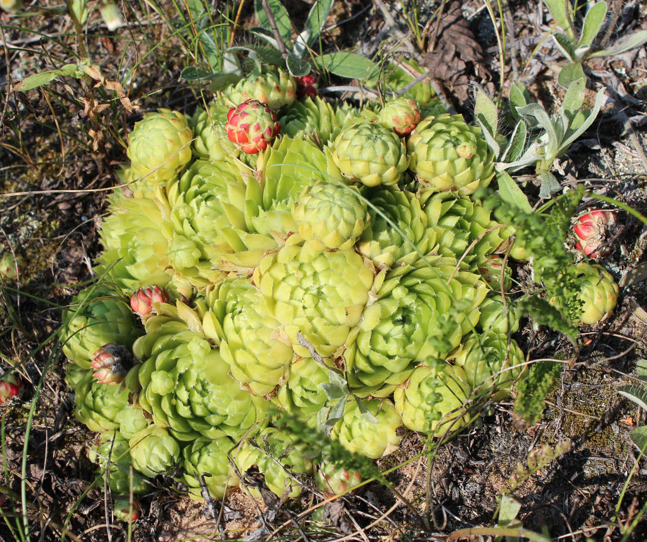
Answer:
<svg viewBox="0 0 647 542"><path fill-rule="evenodd" d="M160 231L162 214L151 198L126 198L117 190L110 198L111 214L99 233L104 252L94 272L107 275L127 293L170 280L168 239Z"/></svg>

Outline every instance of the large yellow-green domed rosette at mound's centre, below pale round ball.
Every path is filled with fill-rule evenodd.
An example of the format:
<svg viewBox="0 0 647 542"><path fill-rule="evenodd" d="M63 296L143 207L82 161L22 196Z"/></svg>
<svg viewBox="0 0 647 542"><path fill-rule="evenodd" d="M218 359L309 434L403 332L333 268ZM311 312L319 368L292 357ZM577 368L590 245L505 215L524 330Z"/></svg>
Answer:
<svg viewBox="0 0 647 542"><path fill-rule="evenodd" d="M294 352L309 351L298 333L323 357L333 356L362 317L373 286L373 271L352 250L335 252L285 245L267 254L254 271L264 309L278 320Z"/></svg>

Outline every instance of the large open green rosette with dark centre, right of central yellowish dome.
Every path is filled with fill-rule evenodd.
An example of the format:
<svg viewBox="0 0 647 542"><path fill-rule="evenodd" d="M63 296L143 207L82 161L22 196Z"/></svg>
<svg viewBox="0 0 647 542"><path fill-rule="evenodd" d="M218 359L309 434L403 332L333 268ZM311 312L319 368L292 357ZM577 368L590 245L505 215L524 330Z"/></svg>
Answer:
<svg viewBox="0 0 647 542"><path fill-rule="evenodd" d="M378 299L364 310L344 351L348 385L356 395L388 396L409 378L415 365L429 356L448 354L460 344L466 330L476 324L485 286L461 281L460 275L448 278L452 264L455 265L441 258L431 268L376 277L376 284L384 280L377 291ZM451 333L444 334L446 350L439 351L430 339L439 330L441 317L450 313L457 299L461 300L462 312L452 314L457 325Z"/></svg>

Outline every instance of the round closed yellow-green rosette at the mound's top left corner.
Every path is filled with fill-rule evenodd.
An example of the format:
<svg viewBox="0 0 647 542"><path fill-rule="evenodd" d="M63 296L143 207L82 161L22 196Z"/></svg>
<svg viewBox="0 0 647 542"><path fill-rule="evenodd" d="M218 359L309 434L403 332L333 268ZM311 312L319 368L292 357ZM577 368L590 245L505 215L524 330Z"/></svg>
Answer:
<svg viewBox="0 0 647 542"><path fill-rule="evenodd" d="M192 139L193 130L179 111L146 113L129 136L126 153L131 174L151 183L172 179L190 161Z"/></svg>

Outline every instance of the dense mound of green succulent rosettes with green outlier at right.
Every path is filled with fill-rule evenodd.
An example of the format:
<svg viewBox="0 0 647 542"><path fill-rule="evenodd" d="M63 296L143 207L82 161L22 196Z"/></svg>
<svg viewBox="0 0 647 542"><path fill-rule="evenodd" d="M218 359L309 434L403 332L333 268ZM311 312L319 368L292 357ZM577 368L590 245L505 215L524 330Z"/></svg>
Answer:
<svg viewBox="0 0 647 542"><path fill-rule="evenodd" d="M470 196L493 176L480 130L424 117L426 87L376 109L296 89L268 69L131 133L99 282L60 332L116 492L130 467L194 499L258 488L256 469L283 498L313 472L349 490L359 473L313 464L277 409L379 458L402 425L458 431L474 396L508 396L521 375L518 316L496 296L510 231ZM610 310L613 283L582 273L583 302L601 292Z"/></svg>

